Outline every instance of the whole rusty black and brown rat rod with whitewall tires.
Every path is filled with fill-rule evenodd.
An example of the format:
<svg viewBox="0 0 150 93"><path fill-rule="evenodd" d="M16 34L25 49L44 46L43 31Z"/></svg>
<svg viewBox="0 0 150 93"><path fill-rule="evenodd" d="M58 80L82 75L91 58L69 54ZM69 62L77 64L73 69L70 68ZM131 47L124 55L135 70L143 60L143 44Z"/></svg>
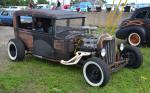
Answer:
<svg viewBox="0 0 150 93"><path fill-rule="evenodd" d="M31 22L22 23L21 16ZM85 16L61 10L20 10L14 13L15 38L8 42L12 61L25 54L83 67L83 76L91 86L104 86L110 73L124 66L138 68L143 57L137 47L116 44L116 39L96 27L86 27Z"/></svg>

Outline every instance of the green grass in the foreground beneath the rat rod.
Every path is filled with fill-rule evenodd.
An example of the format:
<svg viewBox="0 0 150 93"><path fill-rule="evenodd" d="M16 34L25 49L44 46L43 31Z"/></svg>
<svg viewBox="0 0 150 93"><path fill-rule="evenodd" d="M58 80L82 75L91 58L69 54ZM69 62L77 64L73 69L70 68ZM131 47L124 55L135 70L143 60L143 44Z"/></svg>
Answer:
<svg viewBox="0 0 150 93"><path fill-rule="evenodd" d="M0 64L0 93L150 93L149 48L142 48L144 64L111 75L105 87L89 86L82 68L27 56L23 62Z"/></svg>

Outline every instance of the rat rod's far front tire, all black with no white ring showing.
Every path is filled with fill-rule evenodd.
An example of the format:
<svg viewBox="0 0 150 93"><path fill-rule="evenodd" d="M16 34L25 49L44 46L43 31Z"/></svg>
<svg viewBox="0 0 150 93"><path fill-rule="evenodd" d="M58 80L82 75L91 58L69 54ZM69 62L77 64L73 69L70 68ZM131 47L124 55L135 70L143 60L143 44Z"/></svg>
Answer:
<svg viewBox="0 0 150 93"><path fill-rule="evenodd" d="M123 58L128 58L128 68L139 68L143 63L143 56L139 48L134 46L127 46L121 53Z"/></svg>

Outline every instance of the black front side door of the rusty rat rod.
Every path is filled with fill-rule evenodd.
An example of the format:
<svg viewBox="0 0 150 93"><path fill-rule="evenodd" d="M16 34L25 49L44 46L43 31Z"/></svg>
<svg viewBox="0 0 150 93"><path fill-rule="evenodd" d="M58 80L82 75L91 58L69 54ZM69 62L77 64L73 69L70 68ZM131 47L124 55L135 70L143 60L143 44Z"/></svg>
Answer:
<svg viewBox="0 0 150 93"><path fill-rule="evenodd" d="M39 26L39 20L36 20L33 30L33 53L45 58L54 58L53 27L46 25L49 24L49 19L40 18L40 20L41 25Z"/></svg>

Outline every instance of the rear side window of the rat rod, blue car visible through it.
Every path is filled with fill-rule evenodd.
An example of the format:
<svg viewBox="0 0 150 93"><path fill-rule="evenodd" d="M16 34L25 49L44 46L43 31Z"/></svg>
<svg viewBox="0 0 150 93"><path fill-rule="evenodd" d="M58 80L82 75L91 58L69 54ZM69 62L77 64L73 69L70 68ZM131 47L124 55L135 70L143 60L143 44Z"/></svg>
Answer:
<svg viewBox="0 0 150 93"><path fill-rule="evenodd" d="M32 16L18 16L18 27L32 29Z"/></svg>

